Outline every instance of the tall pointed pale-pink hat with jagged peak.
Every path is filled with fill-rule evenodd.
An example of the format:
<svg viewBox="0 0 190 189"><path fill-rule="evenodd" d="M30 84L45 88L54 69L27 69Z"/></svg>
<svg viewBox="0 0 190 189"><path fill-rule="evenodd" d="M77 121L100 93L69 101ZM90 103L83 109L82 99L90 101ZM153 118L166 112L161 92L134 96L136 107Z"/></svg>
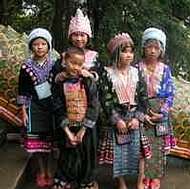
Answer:
<svg viewBox="0 0 190 189"><path fill-rule="evenodd" d="M92 37L92 30L88 16L84 16L79 8L77 9L75 16L70 20L68 37L75 32L83 32L90 38Z"/></svg>

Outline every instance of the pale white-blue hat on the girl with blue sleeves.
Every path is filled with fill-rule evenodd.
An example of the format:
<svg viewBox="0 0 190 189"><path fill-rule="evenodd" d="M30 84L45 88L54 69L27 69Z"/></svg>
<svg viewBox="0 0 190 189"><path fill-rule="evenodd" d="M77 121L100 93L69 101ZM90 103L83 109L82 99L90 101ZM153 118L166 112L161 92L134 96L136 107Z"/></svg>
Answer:
<svg viewBox="0 0 190 189"><path fill-rule="evenodd" d="M148 28L144 31L143 37L142 37L142 47L144 47L145 43L149 39L155 39L158 40L161 43L161 47L163 48L163 52L165 52L166 49L166 34L158 29L158 28Z"/></svg>

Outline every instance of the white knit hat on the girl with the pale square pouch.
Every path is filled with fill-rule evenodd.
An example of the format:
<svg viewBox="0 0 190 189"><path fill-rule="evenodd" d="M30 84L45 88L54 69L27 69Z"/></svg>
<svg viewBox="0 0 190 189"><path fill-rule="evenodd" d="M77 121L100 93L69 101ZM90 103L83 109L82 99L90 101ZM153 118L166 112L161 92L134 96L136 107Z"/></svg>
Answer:
<svg viewBox="0 0 190 189"><path fill-rule="evenodd" d="M44 28L36 28L36 29L32 30L31 33L29 34L28 46L29 46L30 50L31 50L32 42L37 38L45 39L48 43L49 49L51 50L51 48L52 48L52 36L49 33L49 31L44 29Z"/></svg>

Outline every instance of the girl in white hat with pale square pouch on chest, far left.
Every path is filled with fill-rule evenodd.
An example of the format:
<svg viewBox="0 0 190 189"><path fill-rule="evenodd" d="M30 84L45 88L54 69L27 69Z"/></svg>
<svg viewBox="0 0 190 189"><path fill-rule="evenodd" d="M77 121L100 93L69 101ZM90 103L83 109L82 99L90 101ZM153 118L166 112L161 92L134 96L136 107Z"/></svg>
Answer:
<svg viewBox="0 0 190 189"><path fill-rule="evenodd" d="M24 147L34 153L39 163L36 183L39 187L52 184L49 154L52 149L52 113L49 73L52 37L43 28L34 29L28 37L32 55L22 64L19 75L18 104L25 126Z"/></svg>

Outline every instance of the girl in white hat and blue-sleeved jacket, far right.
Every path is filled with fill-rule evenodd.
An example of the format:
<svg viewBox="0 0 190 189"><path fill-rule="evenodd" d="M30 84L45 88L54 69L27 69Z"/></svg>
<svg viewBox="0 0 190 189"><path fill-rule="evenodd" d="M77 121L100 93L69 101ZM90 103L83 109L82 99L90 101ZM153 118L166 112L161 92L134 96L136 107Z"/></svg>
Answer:
<svg viewBox="0 0 190 189"><path fill-rule="evenodd" d="M165 174L166 150L175 145L170 122L170 108L173 105L174 84L171 69L162 62L166 35L157 28L148 28L142 36L143 59L139 69L144 75L148 91L150 123L145 123L152 157L145 160L144 188L159 189L160 179Z"/></svg>

